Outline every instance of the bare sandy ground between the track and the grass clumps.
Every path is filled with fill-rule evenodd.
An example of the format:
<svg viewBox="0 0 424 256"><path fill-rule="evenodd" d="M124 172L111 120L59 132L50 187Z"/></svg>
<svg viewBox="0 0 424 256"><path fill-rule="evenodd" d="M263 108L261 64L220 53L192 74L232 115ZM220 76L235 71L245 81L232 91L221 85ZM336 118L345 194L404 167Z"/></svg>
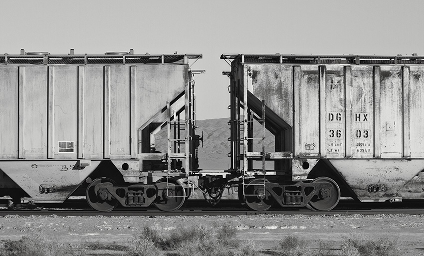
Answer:
<svg viewBox="0 0 424 256"><path fill-rule="evenodd" d="M421 215L332 215L332 216L196 216L196 217L0 217L0 240L19 240L41 231L63 243L109 243L125 245L145 226L168 233L181 227L203 225L236 227L238 237L253 240L262 250L276 248L278 241L296 235L317 249L319 240L340 248L344 237L359 234L372 239L390 238L401 245L399 255L424 256L424 216ZM94 252L93 252L94 253ZM109 253L110 255L110 253Z"/></svg>

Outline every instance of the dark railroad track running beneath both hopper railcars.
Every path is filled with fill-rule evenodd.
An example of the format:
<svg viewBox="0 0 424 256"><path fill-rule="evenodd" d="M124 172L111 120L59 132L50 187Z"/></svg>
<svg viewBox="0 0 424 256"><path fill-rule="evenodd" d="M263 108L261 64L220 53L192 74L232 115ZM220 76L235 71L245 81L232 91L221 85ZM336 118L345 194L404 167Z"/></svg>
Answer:
<svg viewBox="0 0 424 256"><path fill-rule="evenodd" d="M4 207L4 204L0 203ZM68 208L60 209L55 204L44 204L43 208L37 209L3 209L0 210L0 216L19 215L19 216L219 216L219 215L376 215L376 214L424 214L423 204L417 202L403 202L392 204L358 204L358 203L340 203L339 206L331 211L311 211L308 209L270 209L268 211L257 212L250 211L243 207L234 208L233 202L221 203L219 207L212 207L205 203L188 203L185 207L174 212L162 212L154 207L128 209L117 208L112 212L97 212L88 209L83 203L68 204ZM76 210L77 209L77 210Z"/></svg>

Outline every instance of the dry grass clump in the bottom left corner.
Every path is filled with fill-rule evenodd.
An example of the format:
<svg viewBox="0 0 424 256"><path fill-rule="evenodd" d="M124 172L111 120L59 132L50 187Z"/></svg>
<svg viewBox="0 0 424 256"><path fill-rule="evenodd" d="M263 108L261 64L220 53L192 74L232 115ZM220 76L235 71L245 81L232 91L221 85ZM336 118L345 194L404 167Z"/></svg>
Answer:
<svg viewBox="0 0 424 256"><path fill-rule="evenodd" d="M74 256L69 245L54 242L45 235L34 232L24 235L19 241L1 242L2 256Z"/></svg>

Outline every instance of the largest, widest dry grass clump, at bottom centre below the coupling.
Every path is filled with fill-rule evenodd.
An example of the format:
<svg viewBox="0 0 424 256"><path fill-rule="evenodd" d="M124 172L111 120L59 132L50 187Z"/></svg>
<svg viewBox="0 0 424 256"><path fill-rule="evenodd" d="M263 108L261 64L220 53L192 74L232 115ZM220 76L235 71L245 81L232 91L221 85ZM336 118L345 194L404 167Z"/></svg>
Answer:
<svg viewBox="0 0 424 256"><path fill-rule="evenodd" d="M173 230L162 236L157 230L145 227L141 236L130 241L130 255L161 256L257 256L253 242L236 239L235 228L218 229L198 226Z"/></svg>

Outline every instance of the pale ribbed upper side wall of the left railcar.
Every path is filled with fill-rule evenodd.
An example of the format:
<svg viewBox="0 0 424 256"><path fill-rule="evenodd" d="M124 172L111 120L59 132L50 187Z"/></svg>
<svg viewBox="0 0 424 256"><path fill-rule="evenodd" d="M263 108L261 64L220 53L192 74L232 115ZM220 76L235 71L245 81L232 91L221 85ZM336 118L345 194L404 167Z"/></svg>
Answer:
<svg viewBox="0 0 424 256"><path fill-rule="evenodd" d="M135 159L149 139L138 129L167 102L184 107L174 101L188 72L181 64L1 65L0 160Z"/></svg>

